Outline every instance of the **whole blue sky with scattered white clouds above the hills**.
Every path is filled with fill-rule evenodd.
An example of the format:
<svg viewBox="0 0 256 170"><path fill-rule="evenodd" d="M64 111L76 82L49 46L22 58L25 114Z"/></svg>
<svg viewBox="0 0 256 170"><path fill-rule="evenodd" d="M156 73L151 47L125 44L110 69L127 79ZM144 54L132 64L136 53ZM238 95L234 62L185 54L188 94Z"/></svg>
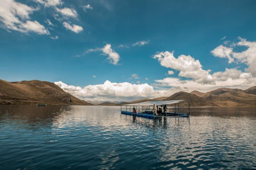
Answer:
<svg viewBox="0 0 256 170"><path fill-rule="evenodd" d="M256 85L254 0L1 0L0 79L90 101Z"/></svg>

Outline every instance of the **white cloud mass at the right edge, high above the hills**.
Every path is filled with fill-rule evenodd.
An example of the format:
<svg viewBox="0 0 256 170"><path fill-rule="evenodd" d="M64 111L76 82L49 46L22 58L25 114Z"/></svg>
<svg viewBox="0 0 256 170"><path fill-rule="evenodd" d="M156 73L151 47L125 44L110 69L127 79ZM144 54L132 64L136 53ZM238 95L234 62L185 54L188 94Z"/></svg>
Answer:
<svg viewBox="0 0 256 170"><path fill-rule="evenodd" d="M239 37L239 42L232 43L230 46L220 45L212 51L212 54L216 57L229 58L229 63L236 60L236 62L246 64L248 67L245 70L256 77L256 42L247 41ZM247 47L247 49L241 52L234 52L232 47Z"/></svg>

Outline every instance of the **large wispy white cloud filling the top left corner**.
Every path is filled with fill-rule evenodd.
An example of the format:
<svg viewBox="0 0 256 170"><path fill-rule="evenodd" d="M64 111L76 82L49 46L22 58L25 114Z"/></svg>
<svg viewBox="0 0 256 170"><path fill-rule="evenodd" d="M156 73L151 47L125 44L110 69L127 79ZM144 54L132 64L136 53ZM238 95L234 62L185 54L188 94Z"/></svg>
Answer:
<svg viewBox="0 0 256 170"><path fill-rule="evenodd" d="M39 22L30 21L30 14L37 9L14 0L0 1L0 25L6 30L20 32L35 32L37 34L50 34L50 32Z"/></svg>

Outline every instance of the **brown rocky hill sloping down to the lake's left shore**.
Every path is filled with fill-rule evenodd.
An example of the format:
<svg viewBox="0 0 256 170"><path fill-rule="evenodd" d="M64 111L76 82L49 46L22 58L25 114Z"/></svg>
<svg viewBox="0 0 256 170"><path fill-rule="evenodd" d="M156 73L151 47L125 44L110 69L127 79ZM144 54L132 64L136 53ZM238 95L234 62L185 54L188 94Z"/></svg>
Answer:
<svg viewBox="0 0 256 170"><path fill-rule="evenodd" d="M47 103L54 105L91 105L65 92L59 86L48 81L0 80L0 104Z"/></svg>

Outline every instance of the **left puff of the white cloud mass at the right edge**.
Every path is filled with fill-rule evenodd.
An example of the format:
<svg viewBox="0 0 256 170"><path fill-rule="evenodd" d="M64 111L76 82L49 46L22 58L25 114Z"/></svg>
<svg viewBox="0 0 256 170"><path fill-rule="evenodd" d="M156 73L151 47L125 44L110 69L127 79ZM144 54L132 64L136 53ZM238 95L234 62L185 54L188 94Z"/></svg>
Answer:
<svg viewBox="0 0 256 170"><path fill-rule="evenodd" d="M234 62L234 58L231 57L232 51L233 51L232 48L220 45L219 47L216 47L214 50L212 50L211 53L215 57L228 58L229 63L232 63Z"/></svg>

